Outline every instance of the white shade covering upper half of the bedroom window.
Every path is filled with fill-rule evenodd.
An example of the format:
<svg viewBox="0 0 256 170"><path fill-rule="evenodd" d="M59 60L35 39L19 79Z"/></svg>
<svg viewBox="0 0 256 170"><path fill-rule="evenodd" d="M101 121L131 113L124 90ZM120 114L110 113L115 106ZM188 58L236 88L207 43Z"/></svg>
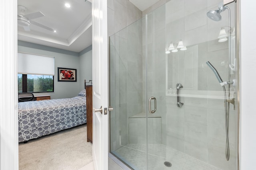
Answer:
<svg viewBox="0 0 256 170"><path fill-rule="evenodd" d="M54 76L54 57L18 53L18 73Z"/></svg>

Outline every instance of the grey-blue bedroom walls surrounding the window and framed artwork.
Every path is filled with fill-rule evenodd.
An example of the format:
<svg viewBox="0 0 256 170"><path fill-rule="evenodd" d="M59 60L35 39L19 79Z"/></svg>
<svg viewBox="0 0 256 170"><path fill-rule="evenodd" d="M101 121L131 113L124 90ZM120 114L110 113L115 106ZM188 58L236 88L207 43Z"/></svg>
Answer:
<svg viewBox="0 0 256 170"><path fill-rule="evenodd" d="M90 48L89 48L90 49ZM53 47L48 47L44 45L38 45L34 43L28 43L25 41L18 41L18 52L31 53L36 55L45 55L54 57L55 65L55 76L54 76L54 92L40 93L38 95L50 95L51 99L57 98L72 98L77 96L81 91L81 87L84 86L84 78L81 78L81 73L86 72L86 75L92 75L92 68L83 67L80 70L82 63L87 65L92 65L91 62L91 50L86 49L81 51L81 53L76 53L72 51L67 51L63 49L57 49ZM81 58L80 58L81 54ZM80 61L81 60L81 61ZM85 63L86 62L86 63ZM87 63L88 62L88 63ZM63 68L74 68L77 69L77 82L58 82L58 67ZM87 77L87 76L86 76ZM90 79L91 80L91 79Z"/></svg>

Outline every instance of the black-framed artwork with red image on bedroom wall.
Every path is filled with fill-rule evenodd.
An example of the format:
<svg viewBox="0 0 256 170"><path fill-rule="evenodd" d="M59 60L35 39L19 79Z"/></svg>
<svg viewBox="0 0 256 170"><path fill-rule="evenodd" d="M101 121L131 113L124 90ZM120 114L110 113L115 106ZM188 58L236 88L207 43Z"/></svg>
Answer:
<svg viewBox="0 0 256 170"><path fill-rule="evenodd" d="M58 82L76 82L76 69L58 67Z"/></svg>

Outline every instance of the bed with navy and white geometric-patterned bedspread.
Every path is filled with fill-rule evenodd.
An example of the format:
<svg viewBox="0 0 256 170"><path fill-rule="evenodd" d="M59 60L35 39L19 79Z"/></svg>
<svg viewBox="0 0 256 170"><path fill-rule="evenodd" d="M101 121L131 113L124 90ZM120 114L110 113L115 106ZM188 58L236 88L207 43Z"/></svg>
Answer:
<svg viewBox="0 0 256 170"><path fill-rule="evenodd" d="M86 90L74 98L18 103L18 137L25 142L86 123Z"/></svg>

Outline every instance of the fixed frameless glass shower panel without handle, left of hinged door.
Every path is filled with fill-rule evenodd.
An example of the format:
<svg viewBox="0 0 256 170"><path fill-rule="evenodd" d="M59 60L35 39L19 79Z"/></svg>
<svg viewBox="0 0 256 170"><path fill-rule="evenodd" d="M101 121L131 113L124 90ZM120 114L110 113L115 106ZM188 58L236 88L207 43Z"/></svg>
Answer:
<svg viewBox="0 0 256 170"><path fill-rule="evenodd" d="M133 169L146 167L142 23L144 18L110 37L110 152Z"/></svg>

